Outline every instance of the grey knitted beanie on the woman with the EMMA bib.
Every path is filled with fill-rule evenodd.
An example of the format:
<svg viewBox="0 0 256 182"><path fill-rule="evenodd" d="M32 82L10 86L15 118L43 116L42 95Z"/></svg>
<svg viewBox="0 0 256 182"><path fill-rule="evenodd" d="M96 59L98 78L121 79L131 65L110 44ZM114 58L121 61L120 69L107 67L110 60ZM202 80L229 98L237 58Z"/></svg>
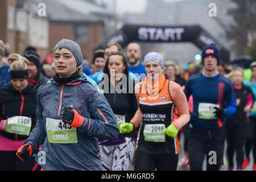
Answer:
<svg viewBox="0 0 256 182"><path fill-rule="evenodd" d="M56 49L59 48L68 49L73 54L76 59L76 67L79 67L82 64L82 52L79 44L73 40L62 39L56 44L53 54L55 53Z"/></svg>

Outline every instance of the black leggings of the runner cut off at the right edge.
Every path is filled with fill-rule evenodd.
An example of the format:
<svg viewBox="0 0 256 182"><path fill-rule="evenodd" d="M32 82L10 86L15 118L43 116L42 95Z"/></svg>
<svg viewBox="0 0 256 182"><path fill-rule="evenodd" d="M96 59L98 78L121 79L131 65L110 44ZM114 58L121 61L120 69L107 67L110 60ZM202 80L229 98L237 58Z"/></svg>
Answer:
<svg viewBox="0 0 256 182"><path fill-rule="evenodd" d="M254 164L256 163L256 116L250 117L250 122L247 124L245 154L246 158L250 159L251 147L253 147Z"/></svg>

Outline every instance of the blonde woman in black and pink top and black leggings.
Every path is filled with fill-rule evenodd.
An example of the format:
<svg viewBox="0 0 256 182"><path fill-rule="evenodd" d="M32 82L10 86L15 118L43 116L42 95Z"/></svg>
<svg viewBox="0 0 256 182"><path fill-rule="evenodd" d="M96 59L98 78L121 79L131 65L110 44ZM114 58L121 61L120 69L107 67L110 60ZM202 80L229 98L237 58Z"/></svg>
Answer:
<svg viewBox="0 0 256 182"><path fill-rule="evenodd" d="M243 143L246 137L248 111L253 106L253 93L251 89L243 85L243 69L235 68L232 71L232 81L237 97L237 111L226 119L226 139L228 142L227 154L229 171L233 170L234 151L236 151L237 170L242 169Z"/></svg>

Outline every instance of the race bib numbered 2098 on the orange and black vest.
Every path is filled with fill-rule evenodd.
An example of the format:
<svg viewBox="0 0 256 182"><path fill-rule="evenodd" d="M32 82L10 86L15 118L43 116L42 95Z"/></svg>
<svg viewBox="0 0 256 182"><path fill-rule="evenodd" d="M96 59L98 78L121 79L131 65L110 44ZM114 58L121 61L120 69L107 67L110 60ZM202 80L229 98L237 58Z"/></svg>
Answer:
<svg viewBox="0 0 256 182"><path fill-rule="evenodd" d="M165 142L166 133L164 130L166 126L164 124L147 124L144 127L143 136L147 142Z"/></svg>

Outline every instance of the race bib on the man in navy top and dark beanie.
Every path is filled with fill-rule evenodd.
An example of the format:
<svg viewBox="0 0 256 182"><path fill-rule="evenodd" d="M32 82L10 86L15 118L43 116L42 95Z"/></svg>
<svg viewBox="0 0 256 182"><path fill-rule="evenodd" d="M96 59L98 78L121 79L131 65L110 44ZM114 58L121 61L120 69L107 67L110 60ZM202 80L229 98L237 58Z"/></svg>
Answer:
<svg viewBox="0 0 256 182"><path fill-rule="evenodd" d="M212 103L199 103L198 106L198 117L201 119L217 119L213 113L216 109L214 107L220 108L217 104Z"/></svg>

